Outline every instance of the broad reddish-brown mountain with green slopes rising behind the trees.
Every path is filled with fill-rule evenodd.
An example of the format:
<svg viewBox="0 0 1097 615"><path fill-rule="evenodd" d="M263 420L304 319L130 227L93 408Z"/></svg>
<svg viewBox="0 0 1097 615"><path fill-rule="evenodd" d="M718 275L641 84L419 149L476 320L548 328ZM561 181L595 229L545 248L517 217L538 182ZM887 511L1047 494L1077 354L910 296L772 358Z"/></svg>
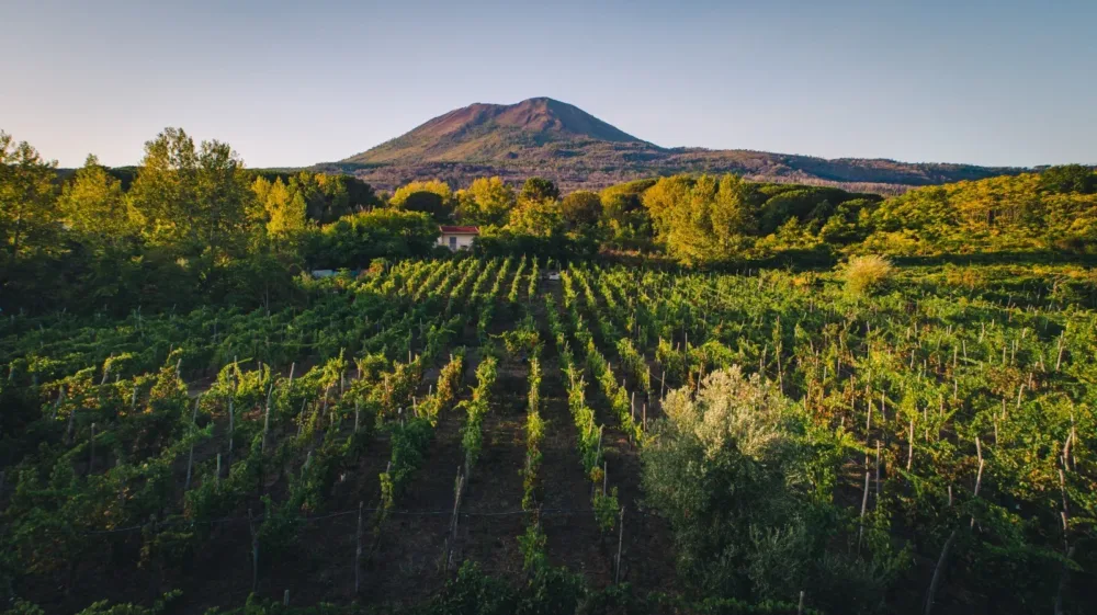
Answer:
<svg viewBox="0 0 1097 615"><path fill-rule="evenodd" d="M381 190L428 178L463 186L485 175L500 175L516 183L541 175L565 190L601 189L653 175L731 172L759 181L880 193L1022 171L887 159L827 160L745 149L664 148L575 105L548 98L457 109L342 161L318 164L317 169L351 173Z"/></svg>

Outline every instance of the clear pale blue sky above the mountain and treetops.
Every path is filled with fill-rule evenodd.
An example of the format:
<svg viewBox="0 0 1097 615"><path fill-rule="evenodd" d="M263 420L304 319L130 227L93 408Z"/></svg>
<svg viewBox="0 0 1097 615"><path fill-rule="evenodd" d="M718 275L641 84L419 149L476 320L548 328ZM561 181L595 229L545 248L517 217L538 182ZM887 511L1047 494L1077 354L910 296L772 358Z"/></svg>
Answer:
<svg viewBox="0 0 1097 615"><path fill-rule="evenodd" d="M667 147L1097 163L1094 24L1097 0L2 0L0 129L69 167L166 126L306 166L545 95Z"/></svg>

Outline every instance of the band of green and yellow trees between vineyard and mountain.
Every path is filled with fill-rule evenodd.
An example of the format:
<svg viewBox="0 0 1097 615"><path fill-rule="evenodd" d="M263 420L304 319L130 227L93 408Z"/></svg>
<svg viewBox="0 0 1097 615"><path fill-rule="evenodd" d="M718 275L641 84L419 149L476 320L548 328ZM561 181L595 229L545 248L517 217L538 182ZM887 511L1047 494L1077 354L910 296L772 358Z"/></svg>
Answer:
<svg viewBox="0 0 1097 615"><path fill-rule="evenodd" d="M1090 253L1097 175L1082 166L929 186L883 198L736 175L672 175L562 194L543 178L377 194L349 175L249 170L228 144L167 128L137 167L89 156L63 172L0 133L0 309L126 314L210 298L253 308L293 297L309 269L426 257L440 224L476 225L476 250L566 260L599 252L688 266L856 252ZM77 307L80 306L80 307Z"/></svg>

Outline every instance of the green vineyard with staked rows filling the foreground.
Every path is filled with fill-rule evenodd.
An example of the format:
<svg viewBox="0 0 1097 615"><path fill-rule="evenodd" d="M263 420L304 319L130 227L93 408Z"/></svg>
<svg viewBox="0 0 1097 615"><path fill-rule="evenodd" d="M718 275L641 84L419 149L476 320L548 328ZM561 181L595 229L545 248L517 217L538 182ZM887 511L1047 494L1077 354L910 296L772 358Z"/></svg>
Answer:
<svg viewBox="0 0 1097 615"><path fill-rule="evenodd" d="M0 608L1093 613L1097 276L855 275L407 260L5 316Z"/></svg>

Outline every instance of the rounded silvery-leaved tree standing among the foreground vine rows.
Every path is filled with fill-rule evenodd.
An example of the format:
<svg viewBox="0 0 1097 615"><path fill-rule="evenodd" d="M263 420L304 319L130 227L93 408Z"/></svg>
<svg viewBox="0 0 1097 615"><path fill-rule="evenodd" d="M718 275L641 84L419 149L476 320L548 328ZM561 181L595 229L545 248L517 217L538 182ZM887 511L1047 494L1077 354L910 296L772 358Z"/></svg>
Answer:
<svg viewBox="0 0 1097 615"><path fill-rule="evenodd" d="M706 376L665 402L657 437L641 452L648 502L671 525L683 579L744 595L753 528L790 520L794 440L788 401L738 367Z"/></svg>

